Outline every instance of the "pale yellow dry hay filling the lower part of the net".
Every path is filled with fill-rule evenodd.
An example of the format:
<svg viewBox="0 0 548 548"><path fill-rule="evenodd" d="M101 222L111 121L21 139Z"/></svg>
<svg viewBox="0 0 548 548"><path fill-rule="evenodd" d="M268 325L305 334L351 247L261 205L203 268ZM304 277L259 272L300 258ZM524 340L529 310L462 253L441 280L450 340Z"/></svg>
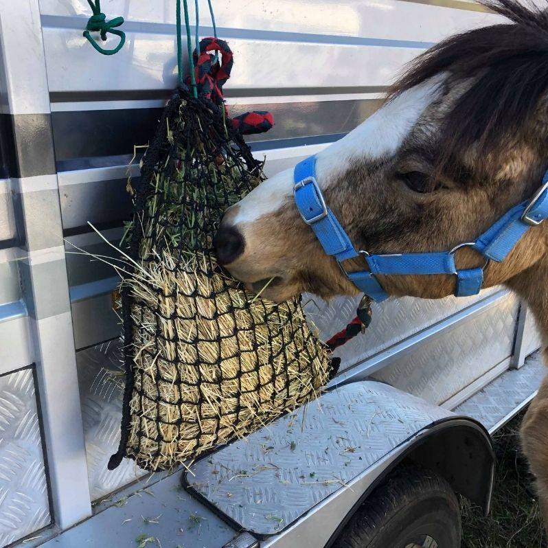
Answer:
<svg viewBox="0 0 548 548"><path fill-rule="evenodd" d="M157 265L155 284L132 288L138 303L133 319L141 328L128 452L147 469L196 457L257 429L317 396L328 374L326 355L309 336L298 304L251 304L231 279L174 275L164 266L169 260ZM185 296L194 291L196 297ZM161 316L152 312L156 307ZM175 310L180 314L174 319L162 319ZM161 345L146 351L158 329ZM302 359L309 367L299 367Z"/></svg>

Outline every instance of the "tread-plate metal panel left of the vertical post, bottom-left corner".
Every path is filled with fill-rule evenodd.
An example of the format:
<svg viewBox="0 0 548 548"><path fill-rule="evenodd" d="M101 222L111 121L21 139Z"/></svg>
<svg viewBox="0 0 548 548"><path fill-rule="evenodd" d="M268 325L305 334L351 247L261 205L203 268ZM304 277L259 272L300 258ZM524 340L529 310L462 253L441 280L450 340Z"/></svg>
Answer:
<svg viewBox="0 0 548 548"><path fill-rule="evenodd" d="M23 369L0 377L0 546L50 521L34 378Z"/></svg>

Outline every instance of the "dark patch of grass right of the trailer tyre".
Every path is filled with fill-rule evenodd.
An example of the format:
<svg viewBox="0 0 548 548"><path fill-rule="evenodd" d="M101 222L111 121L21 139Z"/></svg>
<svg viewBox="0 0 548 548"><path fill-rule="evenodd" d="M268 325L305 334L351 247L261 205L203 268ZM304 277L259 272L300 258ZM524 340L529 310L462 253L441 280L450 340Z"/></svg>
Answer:
<svg viewBox="0 0 548 548"><path fill-rule="evenodd" d="M519 446L523 412L494 437L496 470L491 512L461 499L462 548L541 548L547 540L527 461Z"/></svg>

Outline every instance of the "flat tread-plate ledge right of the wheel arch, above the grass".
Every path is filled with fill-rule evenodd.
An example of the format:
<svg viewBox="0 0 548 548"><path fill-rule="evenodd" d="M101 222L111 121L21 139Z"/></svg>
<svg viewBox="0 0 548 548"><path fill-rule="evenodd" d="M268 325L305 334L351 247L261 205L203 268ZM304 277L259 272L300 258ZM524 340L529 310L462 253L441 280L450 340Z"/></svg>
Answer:
<svg viewBox="0 0 548 548"><path fill-rule="evenodd" d="M453 411L479 420L492 431L540 387L546 374L540 352L529 356L519 369L509 369Z"/></svg>

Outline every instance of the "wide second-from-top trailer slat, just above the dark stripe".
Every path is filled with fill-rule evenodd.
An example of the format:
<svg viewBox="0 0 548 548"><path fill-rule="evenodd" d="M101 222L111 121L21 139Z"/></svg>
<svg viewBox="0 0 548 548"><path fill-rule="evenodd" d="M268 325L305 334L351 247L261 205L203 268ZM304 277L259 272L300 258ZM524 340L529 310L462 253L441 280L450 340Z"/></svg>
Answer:
<svg viewBox="0 0 548 548"><path fill-rule="evenodd" d="M75 42L74 30L44 27L43 36L50 91L174 89L176 85L174 32L128 32L128 47L106 60L80 38ZM245 67L233 71L233 89L255 89L258 82L282 89L330 87L333 82L385 86L405 62L429 46L299 44L249 38L233 38L230 43L238 65ZM287 63L288 59L292 62ZM358 66L361 69L356 71ZM67 73L78 78L66 78Z"/></svg>

